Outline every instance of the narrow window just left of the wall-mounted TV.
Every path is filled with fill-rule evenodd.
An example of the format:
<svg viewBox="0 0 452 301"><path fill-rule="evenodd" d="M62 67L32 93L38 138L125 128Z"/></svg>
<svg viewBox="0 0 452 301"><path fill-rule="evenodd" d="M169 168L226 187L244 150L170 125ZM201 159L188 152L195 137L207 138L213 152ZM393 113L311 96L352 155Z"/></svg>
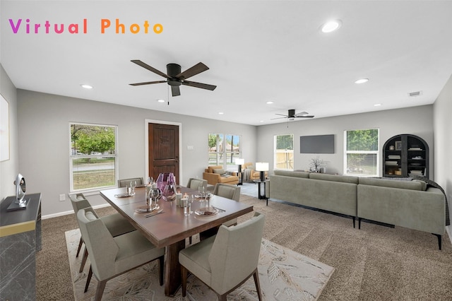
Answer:
<svg viewBox="0 0 452 301"><path fill-rule="evenodd" d="M293 170L294 169L294 135L276 135L274 150L275 170Z"/></svg>

